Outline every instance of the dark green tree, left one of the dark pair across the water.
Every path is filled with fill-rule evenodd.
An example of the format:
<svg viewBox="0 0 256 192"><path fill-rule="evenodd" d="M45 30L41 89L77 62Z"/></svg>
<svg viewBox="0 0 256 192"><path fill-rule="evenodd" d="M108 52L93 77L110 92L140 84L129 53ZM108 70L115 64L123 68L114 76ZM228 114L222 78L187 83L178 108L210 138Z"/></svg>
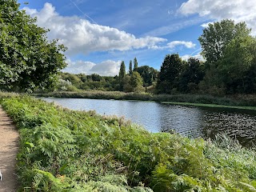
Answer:
<svg viewBox="0 0 256 192"><path fill-rule="evenodd" d="M173 89L177 89L181 71L182 58L178 54L167 54L158 75L158 93L170 94Z"/></svg>

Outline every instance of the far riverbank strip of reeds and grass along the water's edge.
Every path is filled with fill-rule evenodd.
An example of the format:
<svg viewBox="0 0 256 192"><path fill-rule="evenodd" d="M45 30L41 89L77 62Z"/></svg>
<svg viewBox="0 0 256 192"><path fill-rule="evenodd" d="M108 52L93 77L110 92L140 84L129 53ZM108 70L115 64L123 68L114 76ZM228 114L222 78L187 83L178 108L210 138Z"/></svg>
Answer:
<svg viewBox="0 0 256 192"><path fill-rule="evenodd" d="M216 97L200 94L148 94L148 93L124 93L119 91L81 91L81 92L50 92L34 94L38 97L54 98L94 98L94 99L115 99L115 100L138 100L169 102L178 105L194 105L208 107L233 107L239 109L256 109L256 95L229 95ZM218 106L216 106L218 105Z"/></svg>

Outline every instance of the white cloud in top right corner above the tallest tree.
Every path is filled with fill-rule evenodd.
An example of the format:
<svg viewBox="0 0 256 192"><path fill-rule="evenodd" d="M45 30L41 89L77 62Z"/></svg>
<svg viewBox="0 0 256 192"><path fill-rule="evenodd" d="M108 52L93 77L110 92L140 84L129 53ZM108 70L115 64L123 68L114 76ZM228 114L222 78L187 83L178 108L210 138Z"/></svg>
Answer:
<svg viewBox="0 0 256 192"><path fill-rule="evenodd" d="M246 22L256 33L256 4L255 0L188 0L179 9L185 15L199 14L214 20L225 18L235 22Z"/></svg>

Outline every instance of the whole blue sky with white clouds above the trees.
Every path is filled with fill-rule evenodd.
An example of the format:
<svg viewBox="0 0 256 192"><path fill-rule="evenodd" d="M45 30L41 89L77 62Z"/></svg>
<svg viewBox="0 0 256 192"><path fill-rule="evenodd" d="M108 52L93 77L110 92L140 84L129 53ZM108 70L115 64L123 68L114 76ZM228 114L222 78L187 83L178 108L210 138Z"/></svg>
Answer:
<svg viewBox="0 0 256 192"><path fill-rule="evenodd" d="M166 54L200 58L198 37L209 22L224 18L245 21L256 34L255 0L18 0L68 47L64 71L118 74L138 66L159 70ZM28 2L26 5L24 2Z"/></svg>

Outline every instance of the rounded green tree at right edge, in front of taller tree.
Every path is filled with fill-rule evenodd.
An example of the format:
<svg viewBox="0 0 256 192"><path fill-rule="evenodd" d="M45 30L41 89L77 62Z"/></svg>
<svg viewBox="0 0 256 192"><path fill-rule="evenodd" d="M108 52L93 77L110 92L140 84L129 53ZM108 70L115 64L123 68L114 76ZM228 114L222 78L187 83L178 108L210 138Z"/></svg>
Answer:
<svg viewBox="0 0 256 192"><path fill-rule="evenodd" d="M252 36L234 38L226 46L222 58L218 60L218 73L225 85L226 93L254 92L252 82L255 82L255 76L250 74L256 65L255 53L256 38Z"/></svg>

